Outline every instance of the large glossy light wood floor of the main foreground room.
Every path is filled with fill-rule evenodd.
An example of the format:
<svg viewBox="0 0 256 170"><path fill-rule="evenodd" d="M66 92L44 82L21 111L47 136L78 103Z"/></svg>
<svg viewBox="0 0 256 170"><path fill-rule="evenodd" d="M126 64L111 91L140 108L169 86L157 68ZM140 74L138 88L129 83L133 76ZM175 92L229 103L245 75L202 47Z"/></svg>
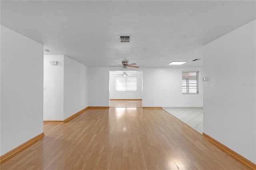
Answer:
<svg viewBox="0 0 256 170"><path fill-rule="evenodd" d="M88 109L4 160L1 170L247 170L162 109Z"/></svg>

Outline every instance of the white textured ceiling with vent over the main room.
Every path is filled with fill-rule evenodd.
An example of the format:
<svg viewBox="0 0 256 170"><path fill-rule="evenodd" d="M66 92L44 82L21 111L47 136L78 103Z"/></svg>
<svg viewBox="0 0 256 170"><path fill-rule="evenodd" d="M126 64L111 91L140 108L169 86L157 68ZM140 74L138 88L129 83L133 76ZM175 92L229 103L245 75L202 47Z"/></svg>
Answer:
<svg viewBox="0 0 256 170"><path fill-rule="evenodd" d="M202 66L202 45L256 18L255 1L0 1L1 25L89 67ZM131 36L120 43L119 35Z"/></svg>

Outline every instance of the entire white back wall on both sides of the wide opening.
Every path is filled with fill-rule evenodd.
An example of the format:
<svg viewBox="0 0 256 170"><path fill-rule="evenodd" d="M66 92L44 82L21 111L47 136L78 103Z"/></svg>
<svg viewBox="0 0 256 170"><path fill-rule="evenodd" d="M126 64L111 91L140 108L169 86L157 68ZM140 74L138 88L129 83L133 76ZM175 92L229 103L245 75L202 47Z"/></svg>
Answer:
<svg viewBox="0 0 256 170"><path fill-rule="evenodd" d="M134 70L129 68L130 70ZM109 106L110 67L89 67L89 106ZM202 67L140 67L142 106L202 107ZM182 95L182 71L199 71L199 95Z"/></svg>

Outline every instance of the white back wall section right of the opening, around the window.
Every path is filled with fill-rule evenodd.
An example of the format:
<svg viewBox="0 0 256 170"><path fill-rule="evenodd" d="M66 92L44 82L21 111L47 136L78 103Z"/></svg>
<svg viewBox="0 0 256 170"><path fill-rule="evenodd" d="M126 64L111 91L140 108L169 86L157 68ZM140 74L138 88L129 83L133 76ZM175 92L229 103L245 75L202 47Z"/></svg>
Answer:
<svg viewBox="0 0 256 170"><path fill-rule="evenodd" d="M199 71L199 94L182 95L182 71ZM143 67L144 107L203 107L201 67Z"/></svg>

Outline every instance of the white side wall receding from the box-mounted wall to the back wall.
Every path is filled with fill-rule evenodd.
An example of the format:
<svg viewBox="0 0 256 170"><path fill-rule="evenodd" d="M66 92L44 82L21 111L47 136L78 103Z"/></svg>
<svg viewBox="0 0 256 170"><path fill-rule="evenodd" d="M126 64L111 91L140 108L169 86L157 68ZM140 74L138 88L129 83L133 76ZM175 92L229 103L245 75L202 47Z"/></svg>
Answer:
<svg viewBox="0 0 256 170"><path fill-rule="evenodd" d="M88 107L88 67L64 56L64 120Z"/></svg>

